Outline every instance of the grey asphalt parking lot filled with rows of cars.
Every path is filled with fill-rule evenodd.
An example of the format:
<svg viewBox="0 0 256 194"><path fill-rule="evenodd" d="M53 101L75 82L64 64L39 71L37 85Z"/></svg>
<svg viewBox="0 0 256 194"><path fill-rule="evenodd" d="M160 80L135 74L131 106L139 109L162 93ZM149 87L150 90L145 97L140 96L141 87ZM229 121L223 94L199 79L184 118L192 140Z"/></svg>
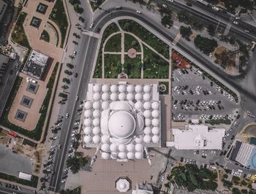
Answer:
<svg viewBox="0 0 256 194"><path fill-rule="evenodd" d="M173 71L173 120L234 120L236 101L194 69Z"/></svg>

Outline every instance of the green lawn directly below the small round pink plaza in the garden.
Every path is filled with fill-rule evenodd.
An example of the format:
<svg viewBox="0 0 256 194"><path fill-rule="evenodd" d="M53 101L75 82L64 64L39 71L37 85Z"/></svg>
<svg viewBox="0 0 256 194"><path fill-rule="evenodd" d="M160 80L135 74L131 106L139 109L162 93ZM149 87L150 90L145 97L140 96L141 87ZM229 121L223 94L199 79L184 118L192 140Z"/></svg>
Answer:
<svg viewBox="0 0 256 194"><path fill-rule="evenodd" d="M140 63L140 55L136 58L129 58L128 55L124 56L124 63L127 63L127 75L129 78L139 79L141 75L141 68L138 65Z"/></svg>

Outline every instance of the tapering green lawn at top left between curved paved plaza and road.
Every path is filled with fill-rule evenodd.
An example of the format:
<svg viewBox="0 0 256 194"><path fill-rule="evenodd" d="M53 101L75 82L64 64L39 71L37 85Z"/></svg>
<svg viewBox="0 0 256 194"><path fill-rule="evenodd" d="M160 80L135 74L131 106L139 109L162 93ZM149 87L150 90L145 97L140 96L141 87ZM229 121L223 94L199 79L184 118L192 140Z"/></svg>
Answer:
<svg viewBox="0 0 256 194"><path fill-rule="evenodd" d="M61 31L61 47L63 47L64 40L67 34L67 15L65 13L64 5L62 0L56 0L56 3L53 7L52 12L50 13L50 20L53 20L54 23L59 26Z"/></svg>

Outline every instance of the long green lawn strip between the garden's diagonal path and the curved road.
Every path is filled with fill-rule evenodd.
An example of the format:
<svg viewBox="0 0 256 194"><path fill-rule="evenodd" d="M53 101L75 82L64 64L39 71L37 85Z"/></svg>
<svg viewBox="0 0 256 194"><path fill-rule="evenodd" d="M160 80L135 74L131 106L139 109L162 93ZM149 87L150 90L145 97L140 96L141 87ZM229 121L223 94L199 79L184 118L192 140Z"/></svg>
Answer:
<svg viewBox="0 0 256 194"><path fill-rule="evenodd" d="M154 50L157 50L158 53L164 55L165 58L170 58L169 46L146 28L143 28L143 26L140 26L140 24L133 20L118 20L118 23L124 31L129 31L132 34L135 34L143 40L143 42L146 42L148 45L153 47Z"/></svg>

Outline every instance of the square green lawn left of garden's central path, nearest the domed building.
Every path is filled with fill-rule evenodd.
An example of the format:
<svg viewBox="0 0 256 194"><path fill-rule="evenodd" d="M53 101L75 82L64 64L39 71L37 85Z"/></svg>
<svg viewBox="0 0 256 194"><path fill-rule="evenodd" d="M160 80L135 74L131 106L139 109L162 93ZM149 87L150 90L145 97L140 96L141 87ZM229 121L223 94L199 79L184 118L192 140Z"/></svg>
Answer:
<svg viewBox="0 0 256 194"><path fill-rule="evenodd" d="M104 59L105 78L117 78L118 74L121 72L121 55L106 54Z"/></svg>

